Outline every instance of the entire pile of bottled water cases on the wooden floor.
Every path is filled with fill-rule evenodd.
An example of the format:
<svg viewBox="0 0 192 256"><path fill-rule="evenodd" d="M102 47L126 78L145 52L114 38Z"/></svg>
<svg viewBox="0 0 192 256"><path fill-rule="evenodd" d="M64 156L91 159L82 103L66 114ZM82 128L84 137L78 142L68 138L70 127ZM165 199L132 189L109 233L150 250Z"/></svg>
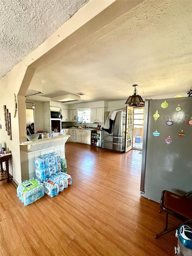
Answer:
<svg viewBox="0 0 192 256"><path fill-rule="evenodd" d="M17 196L25 206L43 197L44 193L54 197L71 185L66 160L61 161L60 155L55 152L35 158L35 174L36 179L26 180L17 187Z"/></svg>

